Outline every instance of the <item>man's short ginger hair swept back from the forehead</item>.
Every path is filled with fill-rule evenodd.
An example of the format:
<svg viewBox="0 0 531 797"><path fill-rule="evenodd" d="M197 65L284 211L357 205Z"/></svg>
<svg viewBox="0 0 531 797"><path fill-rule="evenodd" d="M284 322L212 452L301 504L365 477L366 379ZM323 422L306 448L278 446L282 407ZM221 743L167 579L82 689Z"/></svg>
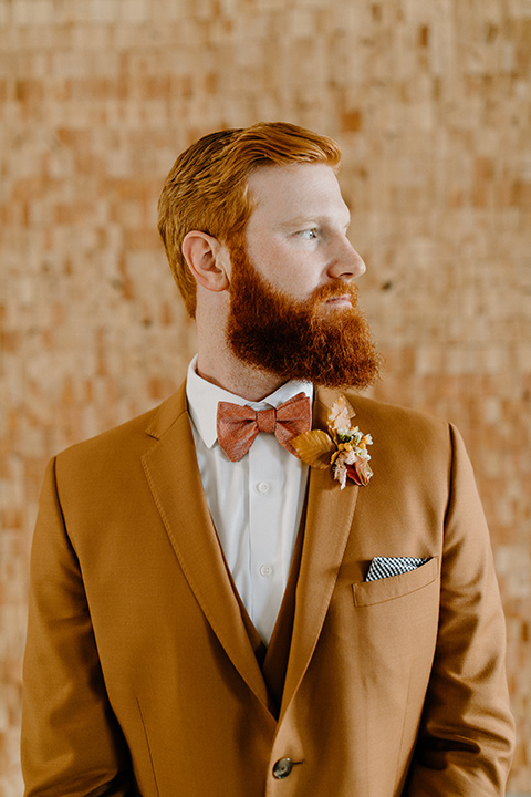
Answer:
<svg viewBox="0 0 531 797"><path fill-rule="evenodd" d="M341 151L327 136L287 122L210 133L175 162L158 200L158 230L190 318L196 281L183 256L183 240L199 230L229 244L246 228L253 206L248 177L261 166L325 163L337 168Z"/></svg>

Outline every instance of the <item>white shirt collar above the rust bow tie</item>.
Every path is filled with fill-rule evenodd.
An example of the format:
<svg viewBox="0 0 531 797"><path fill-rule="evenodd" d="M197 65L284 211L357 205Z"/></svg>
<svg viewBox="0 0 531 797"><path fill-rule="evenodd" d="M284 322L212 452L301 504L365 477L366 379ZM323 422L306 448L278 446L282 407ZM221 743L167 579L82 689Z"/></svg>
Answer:
<svg viewBox="0 0 531 797"><path fill-rule="evenodd" d="M261 402L250 402L199 376L196 365L197 354L188 365L186 398L194 426L207 448L211 448L218 439L217 414L218 402L220 401L229 401L240 406L249 405L254 410L264 410L267 406L278 407L301 392L305 393L311 402L313 401L313 384L292 380L291 382L284 382L283 385L269 396L266 396Z"/></svg>

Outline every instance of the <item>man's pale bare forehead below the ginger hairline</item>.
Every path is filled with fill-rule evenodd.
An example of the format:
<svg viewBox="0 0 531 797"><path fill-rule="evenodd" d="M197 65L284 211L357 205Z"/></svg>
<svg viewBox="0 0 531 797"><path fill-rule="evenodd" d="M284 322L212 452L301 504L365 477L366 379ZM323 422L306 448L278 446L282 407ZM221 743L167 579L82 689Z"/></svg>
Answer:
<svg viewBox="0 0 531 797"><path fill-rule="evenodd" d="M253 210L249 224L259 220L283 224L291 218L348 219L340 184L326 164L262 166L248 179Z"/></svg>

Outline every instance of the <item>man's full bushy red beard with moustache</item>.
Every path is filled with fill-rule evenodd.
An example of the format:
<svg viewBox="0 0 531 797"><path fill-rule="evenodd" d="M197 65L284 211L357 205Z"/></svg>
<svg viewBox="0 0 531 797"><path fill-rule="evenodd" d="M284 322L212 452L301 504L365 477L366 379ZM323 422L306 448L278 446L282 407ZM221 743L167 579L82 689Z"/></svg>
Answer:
<svg viewBox="0 0 531 797"><path fill-rule="evenodd" d="M357 288L336 280L298 301L270 286L254 269L242 244L230 247L232 279L227 342L242 362L282 381L326 387L367 387L381 358L357 308ZM323 302L348 296L352 307L323 310Z"/></svg>

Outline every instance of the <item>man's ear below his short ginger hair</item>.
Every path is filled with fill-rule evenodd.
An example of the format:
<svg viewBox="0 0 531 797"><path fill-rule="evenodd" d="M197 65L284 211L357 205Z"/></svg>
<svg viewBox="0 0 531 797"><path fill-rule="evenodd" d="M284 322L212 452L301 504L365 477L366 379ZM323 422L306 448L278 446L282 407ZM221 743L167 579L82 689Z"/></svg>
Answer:
<svg viewBox="0 0 531 797"><path fill-rule="evenodd" d="M198 284L210 291L227 290L230 257L217 238L191 230L183 240L183 255Z"/></svg>

